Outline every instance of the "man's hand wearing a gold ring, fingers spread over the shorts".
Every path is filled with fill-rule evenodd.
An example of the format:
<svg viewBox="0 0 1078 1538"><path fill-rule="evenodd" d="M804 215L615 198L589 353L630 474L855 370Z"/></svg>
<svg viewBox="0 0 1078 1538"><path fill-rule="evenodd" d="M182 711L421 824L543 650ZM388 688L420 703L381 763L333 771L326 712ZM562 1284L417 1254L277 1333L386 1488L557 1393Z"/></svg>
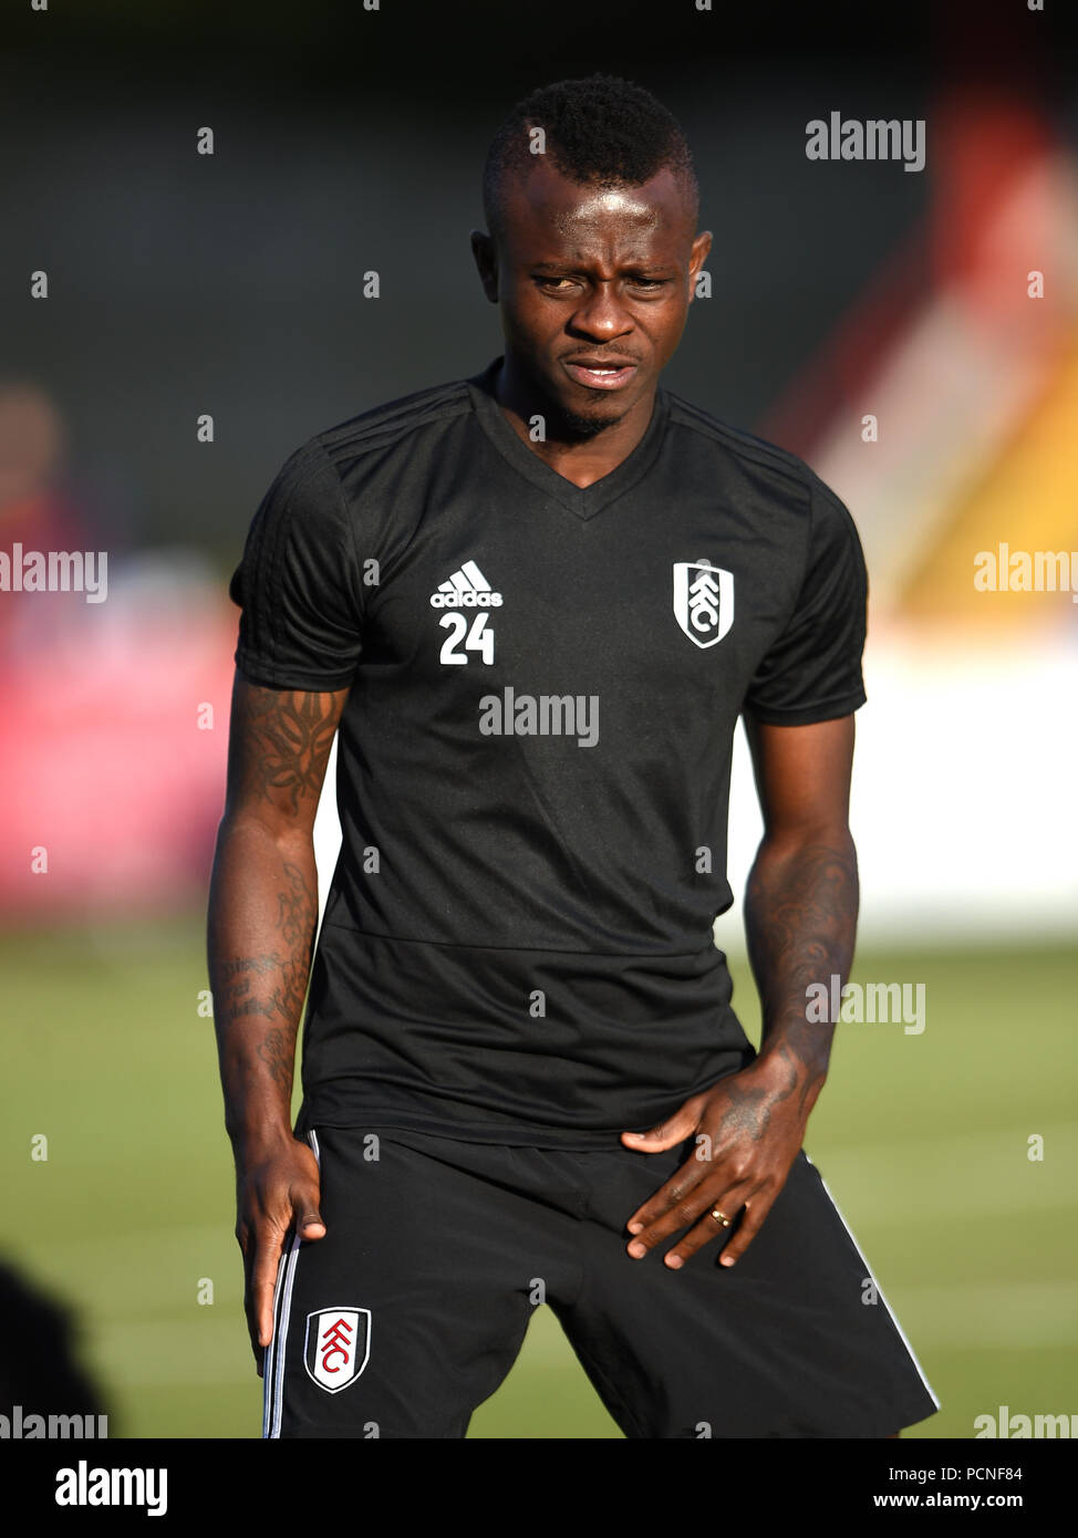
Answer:
<svg viewBox="0 0 1078 1538"><path fill-rule="evenodd" d="M818 1084L812 1086L818 1092ZM807 1103L806 1103L807 1100ZM806 1095L806 1067L789 1047L758 1057L740 1074L694 1095L650 1132L623 1132L626 1147L658 1154L695 1138L686 1164L629 1218L629 1253L641 1258L670 1233L695 1224L664 1261L675 1270L726 1232L714 1210L741 1224L721 1263L732 1266L760 1232L798 1155L815 1101Z"/></svg>

